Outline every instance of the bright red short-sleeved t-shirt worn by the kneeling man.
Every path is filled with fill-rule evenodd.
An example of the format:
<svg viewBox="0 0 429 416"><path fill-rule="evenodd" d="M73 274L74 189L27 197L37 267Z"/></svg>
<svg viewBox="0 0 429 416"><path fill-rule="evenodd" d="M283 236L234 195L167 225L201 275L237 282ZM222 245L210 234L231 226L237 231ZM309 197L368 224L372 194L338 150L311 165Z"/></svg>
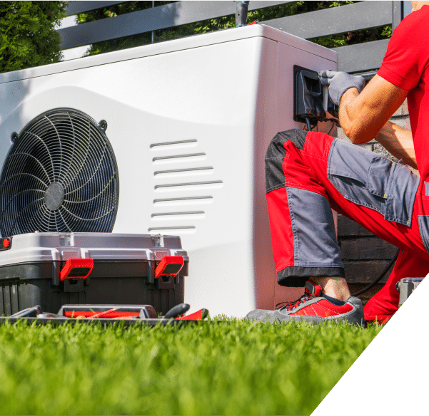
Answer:
<svg viewBox="0 0 429 416"><path fill-rule="evenodd" d="M393 31L378 75L410 90L408 110L420 177L429 180L429 6L413 11Z"/></svg>

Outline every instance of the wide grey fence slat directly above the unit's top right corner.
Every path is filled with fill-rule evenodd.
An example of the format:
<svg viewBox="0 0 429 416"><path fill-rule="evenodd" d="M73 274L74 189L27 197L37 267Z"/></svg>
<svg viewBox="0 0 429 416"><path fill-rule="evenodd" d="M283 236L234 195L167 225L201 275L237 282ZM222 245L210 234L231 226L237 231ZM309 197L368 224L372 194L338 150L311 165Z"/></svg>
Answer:
<svg viewBox="0 0 429 416"><path fill-rule="evenodd" d="M390 1L363 1L261 23L300 38L318 38L319 36L390 25L392 23L392 5Z"/></svg>

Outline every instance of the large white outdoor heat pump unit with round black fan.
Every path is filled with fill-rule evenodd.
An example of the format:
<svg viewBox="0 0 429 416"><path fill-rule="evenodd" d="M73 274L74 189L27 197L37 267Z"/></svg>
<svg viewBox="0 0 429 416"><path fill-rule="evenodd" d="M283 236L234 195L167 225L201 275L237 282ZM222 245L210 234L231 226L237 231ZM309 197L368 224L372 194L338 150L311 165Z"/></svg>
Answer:
<svg viewBox="0 0 429 416"><path fill-rule="evenodd" d="M303 126L294 65L338 58L253 25L1 74L1 234L179 235L193 310L273 308L264 156Z"/></svg>

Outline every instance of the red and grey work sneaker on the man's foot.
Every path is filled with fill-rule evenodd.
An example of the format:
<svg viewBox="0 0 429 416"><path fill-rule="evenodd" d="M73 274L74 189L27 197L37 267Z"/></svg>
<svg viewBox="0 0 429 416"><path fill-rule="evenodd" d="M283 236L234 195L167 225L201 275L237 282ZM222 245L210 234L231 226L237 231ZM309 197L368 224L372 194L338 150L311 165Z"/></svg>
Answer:
<svg viewBox="0 0 429 416"><path fill-rule="evenodd" d="M333 298L330 298L335 302ZM308 321L320 323L324 321L346 321L361 325L364 323L363 306L359 298L350 296L341 306L336 305L322 295L322 288L313 281L306 282L303 296L294 302L285 302L275 311L256 309L247 314L249 321L266 321L280 323L282 321Z"/></svg>

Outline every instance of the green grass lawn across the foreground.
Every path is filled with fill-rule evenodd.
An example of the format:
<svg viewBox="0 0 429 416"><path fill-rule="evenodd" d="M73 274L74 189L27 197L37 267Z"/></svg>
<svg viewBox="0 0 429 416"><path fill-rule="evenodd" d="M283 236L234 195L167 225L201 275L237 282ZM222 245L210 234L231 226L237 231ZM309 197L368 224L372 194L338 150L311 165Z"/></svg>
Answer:
<svg viewBox="0 0 429 416"><path fill-rule="evenodd" d="M5 415L310 414L380 326L0 326Z"/></svg>

